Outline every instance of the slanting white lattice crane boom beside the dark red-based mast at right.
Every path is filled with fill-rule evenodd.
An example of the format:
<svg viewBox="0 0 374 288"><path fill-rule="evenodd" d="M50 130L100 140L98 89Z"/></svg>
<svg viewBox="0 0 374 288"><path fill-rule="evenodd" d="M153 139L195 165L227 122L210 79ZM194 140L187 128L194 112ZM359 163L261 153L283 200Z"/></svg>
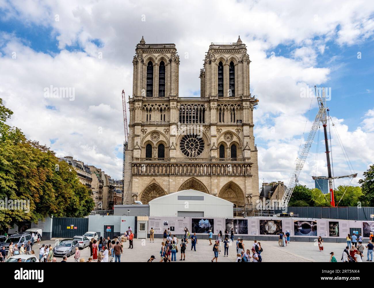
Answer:
<svg viewBox="0 0 374 288"><path fill-rule="evenodd" d="M316 115L316 118L314 119L312 128L310 129L310 132L309 132L308 138L307 138L307 140L304 144L303 150L301 151L300 155L298 155L298 157L295 161L294 170L292 171L291 177L288 181L287 189L286 189L285 193L283 194L281 202L279 203L279 207L286 207L288 205L289 199L291 198L292 192L294 191L294 188L296 186L297 178L299 177L300 172L304 167L304 163L305 163L306 158L308 156L310 147L312 147L312 143L313 143L314 137L316 135L316 132L318 130L319 123L321 121L323 122L323 119L327 118L326 117L326 108L324 107L324 104L323 104L322 99L320 97L318 97L318 102L319 102L318 113Z"/></svg>

